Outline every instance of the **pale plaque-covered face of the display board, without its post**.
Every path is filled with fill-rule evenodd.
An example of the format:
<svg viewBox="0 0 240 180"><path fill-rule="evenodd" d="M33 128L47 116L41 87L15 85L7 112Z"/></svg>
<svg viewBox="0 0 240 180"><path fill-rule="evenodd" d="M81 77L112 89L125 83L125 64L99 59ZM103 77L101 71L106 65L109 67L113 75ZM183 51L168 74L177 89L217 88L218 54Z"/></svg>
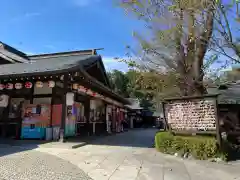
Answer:
<svg viewBox="0 0 240 180"><path fill-rule="evenodd" d="M216 130L215 99L171 101L165 104L168 124L174 130Z"/></svg>

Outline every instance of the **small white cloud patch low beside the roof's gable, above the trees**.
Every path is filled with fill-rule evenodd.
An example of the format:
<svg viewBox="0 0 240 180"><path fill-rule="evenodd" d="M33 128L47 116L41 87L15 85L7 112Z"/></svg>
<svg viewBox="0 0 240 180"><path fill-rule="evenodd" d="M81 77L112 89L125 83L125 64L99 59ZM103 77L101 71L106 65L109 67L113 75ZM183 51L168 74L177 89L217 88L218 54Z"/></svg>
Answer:
<svg viewBox="0 0 240 180"><path fill-rule="evenodd" d="M124 62L119 62L114 57L102 57L104 66L107 71L112 71L114 69L117 69L119 71L126 72L128 71L128 65Z"/></svg>

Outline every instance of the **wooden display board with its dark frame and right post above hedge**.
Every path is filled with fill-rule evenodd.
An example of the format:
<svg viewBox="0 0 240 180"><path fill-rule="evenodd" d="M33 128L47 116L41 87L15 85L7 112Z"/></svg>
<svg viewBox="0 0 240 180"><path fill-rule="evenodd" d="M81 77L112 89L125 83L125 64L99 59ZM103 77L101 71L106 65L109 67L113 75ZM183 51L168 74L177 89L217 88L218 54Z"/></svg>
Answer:
<svg viewBox="0 0 240 180"><path fill-rule="evenodd" d="M221 147L217 95L168 99L163 110L168 130L179 134L213 134Z"/></svg>

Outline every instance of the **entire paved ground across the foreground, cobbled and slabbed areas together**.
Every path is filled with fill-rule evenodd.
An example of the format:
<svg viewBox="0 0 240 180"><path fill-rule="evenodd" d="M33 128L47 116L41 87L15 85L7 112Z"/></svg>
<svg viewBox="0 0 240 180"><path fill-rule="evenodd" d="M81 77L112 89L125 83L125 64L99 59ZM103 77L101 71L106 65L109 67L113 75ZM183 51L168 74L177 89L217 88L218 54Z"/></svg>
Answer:
<svg viewBox="0 0 240 180"><path fill-rule="evenodd" d="M0 145L0 180L240 180L239 162L182 160L157 152L155 132L133 130L78 149Z"/></svg>

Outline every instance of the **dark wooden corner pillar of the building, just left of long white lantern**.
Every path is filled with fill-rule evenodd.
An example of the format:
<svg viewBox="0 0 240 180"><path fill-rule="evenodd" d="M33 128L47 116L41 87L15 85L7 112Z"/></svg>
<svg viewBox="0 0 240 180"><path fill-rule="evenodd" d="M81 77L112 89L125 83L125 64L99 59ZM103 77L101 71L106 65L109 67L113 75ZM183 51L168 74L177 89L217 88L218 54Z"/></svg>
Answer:
<svg viewBox="0 0 240 180"><path fill-rule="evenodd" d="M64 75L63 80L63 96L62 96L62 119L61 119L61 127L60 127L60 142L65 142L65 124L66 124L66 94L68 89L68 76Z"/></svg>

